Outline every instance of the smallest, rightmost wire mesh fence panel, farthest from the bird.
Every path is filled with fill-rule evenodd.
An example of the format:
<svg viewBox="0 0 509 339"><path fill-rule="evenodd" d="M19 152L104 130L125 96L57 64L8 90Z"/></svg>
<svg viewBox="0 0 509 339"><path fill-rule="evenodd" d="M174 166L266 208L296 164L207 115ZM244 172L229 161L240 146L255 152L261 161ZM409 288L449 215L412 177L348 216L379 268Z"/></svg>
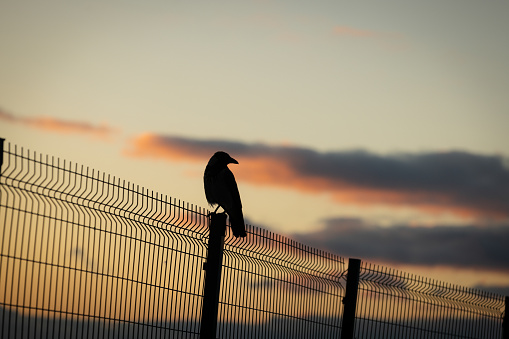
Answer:
<svg viewBox="0 0 509 339"><path fill-rule="evenodd" d="M502 296L362 263L355 337L502 338Z"/></svg>

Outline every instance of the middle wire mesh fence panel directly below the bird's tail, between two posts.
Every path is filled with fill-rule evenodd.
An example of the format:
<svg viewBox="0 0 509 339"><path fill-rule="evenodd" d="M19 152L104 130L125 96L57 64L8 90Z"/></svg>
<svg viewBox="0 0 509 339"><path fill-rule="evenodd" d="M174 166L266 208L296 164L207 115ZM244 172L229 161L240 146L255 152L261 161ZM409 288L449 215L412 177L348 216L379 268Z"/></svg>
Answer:
<svg viewBox="0 0 509 339"><path fill-rule="evenodd" d="M342 258L256 227L227 237L220 338L340 338Z"/></svg>

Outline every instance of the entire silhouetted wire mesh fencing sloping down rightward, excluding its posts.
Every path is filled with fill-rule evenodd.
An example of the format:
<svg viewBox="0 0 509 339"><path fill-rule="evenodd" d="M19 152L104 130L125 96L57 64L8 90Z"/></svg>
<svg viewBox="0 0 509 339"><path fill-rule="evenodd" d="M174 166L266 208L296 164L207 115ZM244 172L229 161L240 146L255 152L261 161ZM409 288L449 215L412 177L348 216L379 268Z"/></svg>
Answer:
<svg viewBox="0 0 509 339"><path fill-rule="evenodd" d="M200 337L207 210L16 146L3 160L2 338ZM247 232L224 240L215 337L340 338L343 258ZM498 295L369 264L355 290L355 338L502 338Z"/></svg>

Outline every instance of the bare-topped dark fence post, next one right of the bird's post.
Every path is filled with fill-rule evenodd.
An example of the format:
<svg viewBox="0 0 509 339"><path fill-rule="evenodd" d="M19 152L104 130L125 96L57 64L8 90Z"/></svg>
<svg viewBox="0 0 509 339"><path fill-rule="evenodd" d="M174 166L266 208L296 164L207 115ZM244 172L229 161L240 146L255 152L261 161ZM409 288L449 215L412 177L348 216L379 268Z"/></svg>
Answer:
<svg viewBox="0 0 509 339"><path fill-rule="evenodd" d="M359 259L348 259L348 275L346 279L346 291L343 298L343 324L341 339L353 339L355 328L355 309L357 307L357 289L359 287L359 274L361 261Z"/></svg>

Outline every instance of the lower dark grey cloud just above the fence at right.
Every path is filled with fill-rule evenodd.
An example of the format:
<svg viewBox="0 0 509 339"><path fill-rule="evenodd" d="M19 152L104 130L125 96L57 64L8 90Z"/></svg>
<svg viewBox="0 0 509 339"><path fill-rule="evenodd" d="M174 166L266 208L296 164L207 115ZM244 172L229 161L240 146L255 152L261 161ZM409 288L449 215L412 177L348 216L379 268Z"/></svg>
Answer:
<svg viewBox="0 0 509 339"><path fill-rule="evenodd" d="M413 265L509 269L509 224L380 227L359 219L332 218L325 221L324 229L294 234L294 238L344 257Z"/></svg>

